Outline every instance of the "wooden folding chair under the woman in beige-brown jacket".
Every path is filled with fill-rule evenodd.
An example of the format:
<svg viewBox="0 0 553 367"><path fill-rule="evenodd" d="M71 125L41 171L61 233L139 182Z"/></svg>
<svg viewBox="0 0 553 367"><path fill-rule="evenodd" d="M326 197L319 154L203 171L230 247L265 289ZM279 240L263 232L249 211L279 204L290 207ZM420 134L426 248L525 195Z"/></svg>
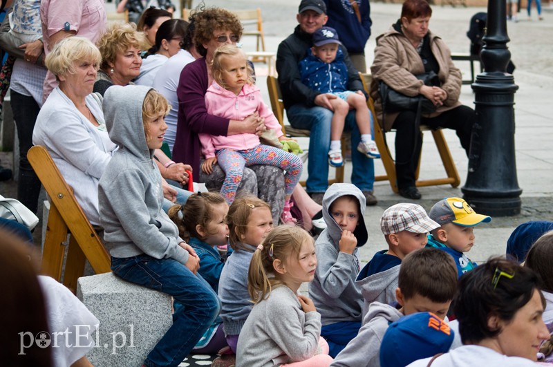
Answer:
<svg viewBox="0 0 553 367"><path fill-rule="evenodd" d="M361 81L363 82L363 88L365 89L366 93L369 92L369 84L371 82L371 75L370 74L364 74L359 73L359 77L361 77ZM391 156L390 150L388 149L388 145L386 144L386 136L384 135L384 130L382 129L382 126L378 123L377 114L375 111L375 103L373 101L372 97L368 97L367 101L368 109L371 110L371 113L373 114L374 122L375 122L375 135L374 139L377 144L378 150L380 151L380 159L382 160L382 164L384 164L384 170L386 171L386 175L384 176L376 176L375 180L377 181L384 181L388 180L390 182L390 186L392 187L393 192L396 194L400 191L397 187L397 176L395 175L395 162ZM419 162L417 166L417 171L415 171L415 185L418 187L421 186L436 186L436 185L451 185L451 187L458 187L461 183L461 179L459 177L459 173L457 171L457 167L455 166L455 162L453 162L453 157L451 156L451 151L449 151L449 147L447 146L447 142L444 138L444 133L441 129L434 130L430 129L428 126L421 125L420 126L420 133L422 135L423 131L431 131L432 136L434 138L434 142L436 144L436 147L438 148L438 153L440 153L440 158L442 159L442 164L444 165L444 169L446 171L447 177L446 178L434 178L432 180L419 180L419 171L420 171L420 161L421 156L419 156Z"/></svg>

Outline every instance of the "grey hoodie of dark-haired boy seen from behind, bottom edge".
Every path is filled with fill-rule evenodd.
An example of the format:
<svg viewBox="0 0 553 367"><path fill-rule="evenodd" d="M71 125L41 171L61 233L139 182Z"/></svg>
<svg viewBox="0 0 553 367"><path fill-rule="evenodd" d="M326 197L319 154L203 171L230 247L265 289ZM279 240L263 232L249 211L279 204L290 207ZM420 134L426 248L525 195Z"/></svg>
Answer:
<svg viewBox="0 0 553 367"><path fill-rule="evenodd" d="M371 303L357 337L339 352L330 367L379 367L382 338L388 325L402 317L402 312L391 305Z"/></svg>

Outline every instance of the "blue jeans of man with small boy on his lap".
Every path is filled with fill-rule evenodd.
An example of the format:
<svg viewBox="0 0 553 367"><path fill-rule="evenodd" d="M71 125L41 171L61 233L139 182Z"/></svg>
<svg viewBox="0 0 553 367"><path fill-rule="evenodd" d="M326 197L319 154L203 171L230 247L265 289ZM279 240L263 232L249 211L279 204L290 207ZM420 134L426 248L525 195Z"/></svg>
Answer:
<svg viewBox="0 0 553 367"><path fill-rule="evenodd" d="M330 149L330 122L332 111L324 107L305 107L294 104L286 111L290 124L296 129L310 130L308 158L308 192L324 192L328 187L328 150ZM372 116L371 116L372 122ZM372 130L372 123L371 123ZM346 117L344 131L351 131L351 183L361 191L373 191L375 164L372 159L357 151L361 134L355 122L355 111Z"/></svg>

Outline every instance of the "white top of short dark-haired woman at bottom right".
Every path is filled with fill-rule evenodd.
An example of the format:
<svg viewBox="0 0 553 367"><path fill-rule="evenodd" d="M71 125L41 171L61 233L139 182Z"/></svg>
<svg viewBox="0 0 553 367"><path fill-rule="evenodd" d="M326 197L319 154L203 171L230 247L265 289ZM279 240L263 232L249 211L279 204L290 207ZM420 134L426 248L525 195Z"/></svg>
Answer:
<svg viewBox="0 0 553 367"><path fill-rule="evenodd" d="M407 367L427 367L432 359L414 361ZM483 346L461 346L434 359L431 367L535 367L534 361L521 357L507 357Z"/></svg>

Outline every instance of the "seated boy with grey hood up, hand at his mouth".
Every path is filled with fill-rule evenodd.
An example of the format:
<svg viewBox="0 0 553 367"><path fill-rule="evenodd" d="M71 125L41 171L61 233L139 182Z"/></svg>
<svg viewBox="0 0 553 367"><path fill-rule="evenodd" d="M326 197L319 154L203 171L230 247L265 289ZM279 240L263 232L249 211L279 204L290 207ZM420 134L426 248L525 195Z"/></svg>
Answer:
<svg viewBox="0 0 553 367"><path fill-rule="evenodd" d="M317 271L309 285L309 297L321 314L321 337L335 357L361 327L363 297L355 285L359 273L357 247L367 242L363 218L365 196L355 185L337 183L323 198L327 225L315 242Z"/></svg>

